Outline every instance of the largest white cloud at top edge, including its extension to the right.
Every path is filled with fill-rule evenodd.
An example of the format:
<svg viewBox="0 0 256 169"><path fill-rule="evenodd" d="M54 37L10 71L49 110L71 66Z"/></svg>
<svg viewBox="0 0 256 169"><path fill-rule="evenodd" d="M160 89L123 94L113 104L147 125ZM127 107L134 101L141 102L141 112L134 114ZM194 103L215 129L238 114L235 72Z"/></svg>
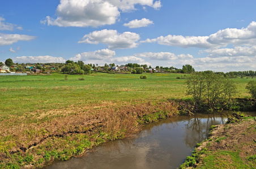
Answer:
<svg viewBox="0 0 256 169"><path fill-rule="evenodd" d="M137 4L155 9L161 7L160 1L153 0L61 0L56 10L57 18L46 16L41 23L63 27L111 25L120 17L120 10L135 10Z"/></svg>

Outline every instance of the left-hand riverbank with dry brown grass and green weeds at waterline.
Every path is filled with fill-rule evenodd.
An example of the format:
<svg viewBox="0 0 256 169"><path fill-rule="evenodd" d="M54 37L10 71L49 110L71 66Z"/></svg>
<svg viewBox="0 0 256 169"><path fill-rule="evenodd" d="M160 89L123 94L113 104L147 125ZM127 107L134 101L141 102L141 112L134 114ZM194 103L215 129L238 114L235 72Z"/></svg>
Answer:
<svg viewBox="0 0 256 169"><path fill-rule="evenodd" d="M172 101L105 102L6 119L1 123L0 168L40 168L54 159L67 160L105 141L133 136L143 123L177 114ZM28 115L33 122L23 123Z"/></svg>

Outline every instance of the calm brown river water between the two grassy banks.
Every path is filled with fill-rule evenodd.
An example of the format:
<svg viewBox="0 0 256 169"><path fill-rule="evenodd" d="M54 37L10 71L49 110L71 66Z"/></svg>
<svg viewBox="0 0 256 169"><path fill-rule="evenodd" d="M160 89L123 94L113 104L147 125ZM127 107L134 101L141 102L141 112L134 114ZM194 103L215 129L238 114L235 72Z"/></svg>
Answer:
<svg viewBox="0 0 256 169"><path fill-rule="evenodd" d="M132 139L109 141L83 157L45 168L177 168L197 143L207 139L211 126L225 123L226 117L195 114L163 119L146 124Z"/></svg>

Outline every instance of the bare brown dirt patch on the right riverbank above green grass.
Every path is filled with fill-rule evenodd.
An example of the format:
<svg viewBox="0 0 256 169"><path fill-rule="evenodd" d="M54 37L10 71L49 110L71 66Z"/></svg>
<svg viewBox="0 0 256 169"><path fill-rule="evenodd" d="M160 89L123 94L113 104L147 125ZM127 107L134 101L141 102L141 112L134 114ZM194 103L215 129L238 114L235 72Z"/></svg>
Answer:
<svg viewBox="0 0 256 169"><path fill-rule="evenodd" d="M248 157L256 154L256 121L253 118L243 119L241 122L234 124L220 124L215 126L211 131L210 137L204 141L198 148L197 152L207 148L207 153L203 154L199 163L195 168L204 167L204 158L209 155L217 154L217 152L233 152L238 153L238 158L245 164L251 166ZM221 155L217 155L214 160L220 159ZM233 166L234 161L231 157L225 155L225 160L229 159L229 167ZM233 166L234 167L234 166ZM225 168L225 167L224 167Z"/></svg>

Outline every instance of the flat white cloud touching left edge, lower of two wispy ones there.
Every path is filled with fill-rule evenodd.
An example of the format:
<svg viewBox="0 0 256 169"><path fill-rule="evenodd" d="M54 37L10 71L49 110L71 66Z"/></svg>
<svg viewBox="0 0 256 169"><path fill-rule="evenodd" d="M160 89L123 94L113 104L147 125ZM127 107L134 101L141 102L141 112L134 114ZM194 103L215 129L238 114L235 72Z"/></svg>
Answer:
<svg viewBox="0 0 256 169"><path fill-rule="evenodd" d="M12 43L16 43L18 41L31 41L36 37L25 34L4 34L0 33L0 46L3 45L11 45Z"/></svg>

